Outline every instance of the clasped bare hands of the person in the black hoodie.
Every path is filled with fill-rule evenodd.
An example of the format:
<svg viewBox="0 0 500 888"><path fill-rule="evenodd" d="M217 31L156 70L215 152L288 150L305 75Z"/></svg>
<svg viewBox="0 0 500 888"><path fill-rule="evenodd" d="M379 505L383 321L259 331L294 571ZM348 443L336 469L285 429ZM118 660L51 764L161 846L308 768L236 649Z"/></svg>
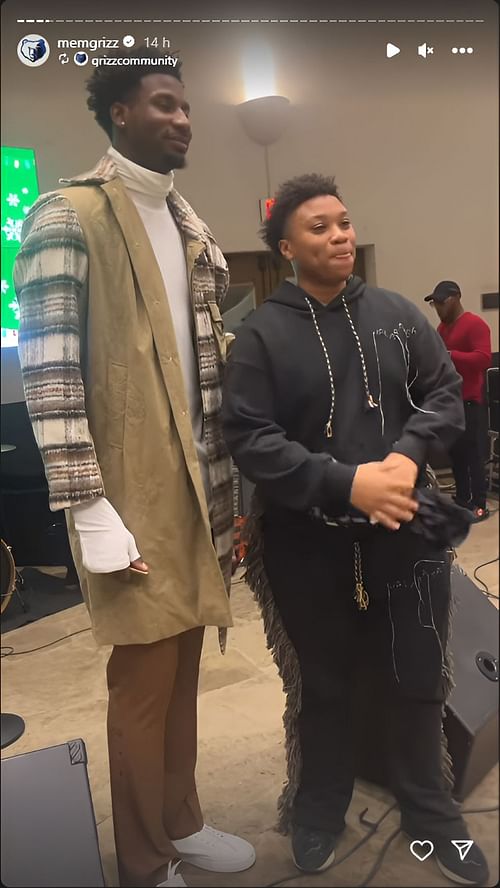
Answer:
<svg viewBox="0 0 500 888"><path fill-rule="evenodd" d="M416 466L415 469L418 472ZM411 521L418 509L418 503L411 496L413 486L408 486L408 480L408 473L403 478L403 472L395 465L386 465L385 460L364 463L358 466L354 475L351 503L368 515L372 523L399 530L401 522Z"/></svg>

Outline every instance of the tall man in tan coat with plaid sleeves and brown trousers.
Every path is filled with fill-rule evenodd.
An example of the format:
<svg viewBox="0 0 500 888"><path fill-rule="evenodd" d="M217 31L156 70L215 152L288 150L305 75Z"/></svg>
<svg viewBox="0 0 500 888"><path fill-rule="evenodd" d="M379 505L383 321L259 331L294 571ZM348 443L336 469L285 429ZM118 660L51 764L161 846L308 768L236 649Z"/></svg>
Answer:
<svg viewBox="0 0 500 888"><path fill-rule="evenodd" d="M112 147L26 218L20 358L50 504L68 510L95 637L113 645L120 882L184 885L174 858L226 872L255 859L248 842L204 825L194 776L203 627L231 623L228 273L173 187L191 140L180 61L120 58L87 84Z"/></svg>

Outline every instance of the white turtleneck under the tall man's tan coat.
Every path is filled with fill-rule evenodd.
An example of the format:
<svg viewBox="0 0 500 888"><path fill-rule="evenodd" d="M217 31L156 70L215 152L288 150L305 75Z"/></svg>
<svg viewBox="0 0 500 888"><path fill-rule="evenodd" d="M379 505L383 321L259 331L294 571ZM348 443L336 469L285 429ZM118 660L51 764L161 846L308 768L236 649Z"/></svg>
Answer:
<svg viewBox="0 0 500 888"><path fill-rule="evenodd" d="M194 315L182 238L167 204L173 188L173 173L156 173L123 157L116 148L108 154L143 221L160 268L170 305L177 352L184 377L193 435L200 461L203 485L210 506L208 456L203 442L203 409L198 359L195 348Z"/></svg>

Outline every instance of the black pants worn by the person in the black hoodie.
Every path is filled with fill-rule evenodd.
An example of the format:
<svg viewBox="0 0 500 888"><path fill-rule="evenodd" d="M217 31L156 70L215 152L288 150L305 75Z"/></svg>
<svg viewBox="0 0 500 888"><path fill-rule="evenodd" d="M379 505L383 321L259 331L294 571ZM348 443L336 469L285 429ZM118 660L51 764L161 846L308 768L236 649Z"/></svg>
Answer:
<svg viewBox="0 0 500 888"><path fill-rule="evenodd" d="M354 601L359 540L366 611ZM296 824L339 832L354 786L354 680L376 678L390 788L412 837L467 837L442 773L443 651L450 599L447 554L408 528L332 528L270 514L265 568L302 677L302 772ZM358 670L361 669L361 673ZM370 725L366 725L369 742Z"/></svg>

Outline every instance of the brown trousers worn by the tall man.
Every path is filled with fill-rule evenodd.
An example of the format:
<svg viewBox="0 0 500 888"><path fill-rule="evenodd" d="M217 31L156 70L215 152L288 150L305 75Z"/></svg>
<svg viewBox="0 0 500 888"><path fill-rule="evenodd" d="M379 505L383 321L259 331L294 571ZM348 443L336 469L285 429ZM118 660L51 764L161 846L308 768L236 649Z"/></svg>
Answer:
<svg viewBox="0 0 500 888"><path fill-rule="evenodd" d="M120 885L150 888L200 830L195 784L203 627L119 645L108 661L108 748Z"/></svg>

